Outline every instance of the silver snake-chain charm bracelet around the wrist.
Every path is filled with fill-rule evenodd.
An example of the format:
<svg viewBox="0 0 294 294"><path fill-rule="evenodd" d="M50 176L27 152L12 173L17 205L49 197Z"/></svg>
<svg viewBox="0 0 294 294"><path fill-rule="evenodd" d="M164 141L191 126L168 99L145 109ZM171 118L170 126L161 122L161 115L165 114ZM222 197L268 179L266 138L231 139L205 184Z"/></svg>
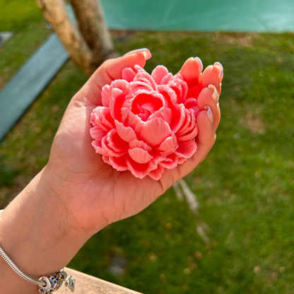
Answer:
<svg viewBox="0 0 294 294"><path fill-rule="evenodd" d="M32 278L31 276L28 276L23 271L21 271L18 266L16 266L16 264L14 264L13 261L8 257L1 246L0 255L9 264L9 266L11 266L11 269L13 269L16 274L24 278L26 281L29 281L30 283L34 283L35 285L39 286L39 291L41 294L52 293L58 290L63 283L66 287L69 287L69 289L74 291L76 279L71 278L71 275L66 274L66 271L64 271L64 269L61 269L61 271L53 273L50 276L41 276L38 280L36 280L35 278Z"/></svg>

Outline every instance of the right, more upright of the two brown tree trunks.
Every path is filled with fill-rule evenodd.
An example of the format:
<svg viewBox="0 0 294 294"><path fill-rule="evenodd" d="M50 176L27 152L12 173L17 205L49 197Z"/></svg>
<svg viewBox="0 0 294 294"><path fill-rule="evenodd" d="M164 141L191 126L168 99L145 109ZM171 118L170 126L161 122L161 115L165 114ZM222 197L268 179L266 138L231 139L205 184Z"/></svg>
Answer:
<svg viewBox="0 0 294 294"><path fill-rule="evenodd" d="M93 64L100 66L105 59L116 57L114 45L99 0L70 0L78 28L93 52Z"/></svg>

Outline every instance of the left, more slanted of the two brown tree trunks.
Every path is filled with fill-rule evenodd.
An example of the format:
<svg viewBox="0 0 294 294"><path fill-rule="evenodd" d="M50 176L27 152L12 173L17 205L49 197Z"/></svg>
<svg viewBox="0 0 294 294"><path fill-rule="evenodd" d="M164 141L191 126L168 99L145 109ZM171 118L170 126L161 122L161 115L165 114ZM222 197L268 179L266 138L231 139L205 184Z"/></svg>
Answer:
<svg viewBox="0 0 294 294"><path fill-rule="evenodd" d="M91 52L83 36L73 25L63 0L37 0L45 19L52 25L53 30L66 47L71 59L78 64L87 76L97 68L93 64Z"/></svg>

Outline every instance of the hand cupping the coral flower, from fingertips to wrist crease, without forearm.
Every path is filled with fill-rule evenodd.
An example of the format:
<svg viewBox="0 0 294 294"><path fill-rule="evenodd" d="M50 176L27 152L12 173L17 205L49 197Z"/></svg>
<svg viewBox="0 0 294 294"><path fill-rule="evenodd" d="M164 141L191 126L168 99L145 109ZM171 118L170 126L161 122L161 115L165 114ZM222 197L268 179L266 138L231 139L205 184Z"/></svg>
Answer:
<svg viewBox="0 0 294 294"><path fill-rule="evenodd" d="M118 172L95 153L89 122L93 109L101 105L101 88L122 78L125 67L134 68L135 64L143 67L145 56L146 52L134 52L105 61L71 100L55 136L45 168L46 177L64 204L71 224L81 233L97 233L109 223L142 211L173 183L194 170L216 140L220 109L217 94L208 88L198 100L202 111L196 119L199 126L196 153L186 163L165 170L160 180L151 177L139 180L129 171ZM193 83L199 77L200 67L198 59L188 59L180 73L187 83ZM221 70L218 64L211 66L204 71L203 80L213 81L211 83L220 90Z"/></svg>

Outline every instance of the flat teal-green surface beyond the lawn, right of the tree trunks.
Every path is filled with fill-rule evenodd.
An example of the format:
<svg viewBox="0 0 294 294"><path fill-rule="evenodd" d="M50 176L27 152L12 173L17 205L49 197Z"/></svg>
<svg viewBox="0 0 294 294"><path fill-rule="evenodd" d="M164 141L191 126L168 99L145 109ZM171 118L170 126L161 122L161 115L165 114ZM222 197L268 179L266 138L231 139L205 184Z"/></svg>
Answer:
<svg viewBox="0 0 294 294"><path fill-rule="evenodd" d="M101 0L118 30L294 31L294 0Z"/></svg>

